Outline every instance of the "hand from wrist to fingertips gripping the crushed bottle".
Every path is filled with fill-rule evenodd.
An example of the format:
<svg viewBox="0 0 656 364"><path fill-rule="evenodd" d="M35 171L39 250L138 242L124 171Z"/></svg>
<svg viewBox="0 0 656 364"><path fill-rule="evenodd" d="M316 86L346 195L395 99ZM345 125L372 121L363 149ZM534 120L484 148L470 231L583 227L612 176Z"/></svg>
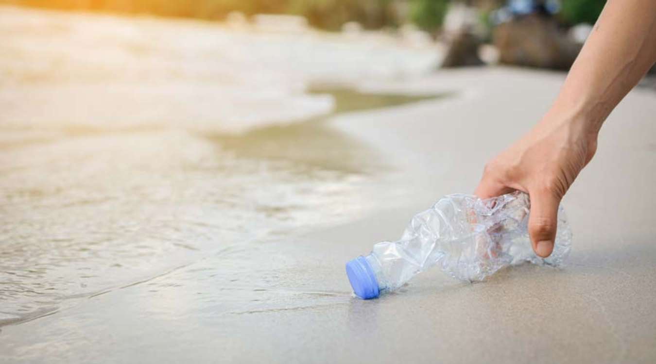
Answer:
<svg viewBox="0 0 656 364"><path fill-rule="evenodd" d="M531 198L529 235L533 251L548 257L554 249L558 206L588 162L594 156L598 129L577 118L550 112L508 149L485 165L476 188L480 198L499 196L514 190Z"/></svg>

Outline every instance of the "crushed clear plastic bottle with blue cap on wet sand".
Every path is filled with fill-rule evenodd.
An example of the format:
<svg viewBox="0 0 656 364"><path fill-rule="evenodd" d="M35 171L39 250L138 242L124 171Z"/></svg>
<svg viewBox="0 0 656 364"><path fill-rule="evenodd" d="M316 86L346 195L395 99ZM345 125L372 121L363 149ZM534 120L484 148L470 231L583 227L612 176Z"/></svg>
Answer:
<svg viewBox="0 0 656 364"><path fill-rule="evenodd" d="M371 254L346 263L346 274L358 297L373 299L434 265L469 282L525 261L562 265L572 238L563 207L558 209L554 251L547 258L531 247L529 208L529 196L519 191L487 200L449 194L415 215L401 240L380 242Z"/></svg>

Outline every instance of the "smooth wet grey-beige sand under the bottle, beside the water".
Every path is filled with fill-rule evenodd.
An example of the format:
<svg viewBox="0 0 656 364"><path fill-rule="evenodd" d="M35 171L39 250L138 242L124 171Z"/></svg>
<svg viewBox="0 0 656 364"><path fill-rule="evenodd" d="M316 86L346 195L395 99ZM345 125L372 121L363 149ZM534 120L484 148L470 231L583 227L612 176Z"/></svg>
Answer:
<svg viewBox="0 0 656 364"><path fill-rule="evenodd" d="M472 191L485 161L541 117L563 79L499 67L360 82L453 97L330 117L321 128L339 137L318 143L324 154L277 155L309 155L328 170L355 161L340 169L348 187L328 175L333 182L310 189L321 192L316 203L283 213L302 223L305 209L326 201L342 219L316 224L312 215L303 229L290 223L248 244L216 243L143 280L70 298L48 316L2 327L0 361L653 363L656 94L648 90L631 92L611 115L564 200L574 233L565 268L523 265L476 284L434 270L368 301L352 295L344 274L348 259L398 238L415 212ZM261 140L252 133L245 137ZM276 133L288 145L298 126ZM347 140L336 149L349 153L331 153L334 140ZM275 204L260 212L281 216Z"/></svg>

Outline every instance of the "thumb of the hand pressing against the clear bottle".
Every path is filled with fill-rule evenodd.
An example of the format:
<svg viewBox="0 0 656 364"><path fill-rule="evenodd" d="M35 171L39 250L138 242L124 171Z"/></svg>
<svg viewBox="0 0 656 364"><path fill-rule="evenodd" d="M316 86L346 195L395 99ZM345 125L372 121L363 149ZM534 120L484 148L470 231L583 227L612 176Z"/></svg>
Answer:
<svg viewBox="0 0 656 364"><path fill-rule="evenodd" d="M529 216L529 235L533 251L546 258L554 250L556 228L558 227L558 206L561 197L550 191L529 191L531 215Z"/></svg>

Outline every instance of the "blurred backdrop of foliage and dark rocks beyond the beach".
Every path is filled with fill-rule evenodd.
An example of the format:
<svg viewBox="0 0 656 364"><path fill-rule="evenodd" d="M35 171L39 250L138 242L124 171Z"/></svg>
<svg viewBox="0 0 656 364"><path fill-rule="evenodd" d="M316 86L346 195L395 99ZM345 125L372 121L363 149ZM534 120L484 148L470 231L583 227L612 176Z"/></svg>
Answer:
<svg viewBox="0 0 656 364"><path fill-rule="evenodd" d="M152 14L300 30L378 30L449 46L445 66L497 63L567 69L604 0L3 0L115 14ZM278 16L261 16L277 14ZM494 45L483 47L481 45Z"/></svg>

